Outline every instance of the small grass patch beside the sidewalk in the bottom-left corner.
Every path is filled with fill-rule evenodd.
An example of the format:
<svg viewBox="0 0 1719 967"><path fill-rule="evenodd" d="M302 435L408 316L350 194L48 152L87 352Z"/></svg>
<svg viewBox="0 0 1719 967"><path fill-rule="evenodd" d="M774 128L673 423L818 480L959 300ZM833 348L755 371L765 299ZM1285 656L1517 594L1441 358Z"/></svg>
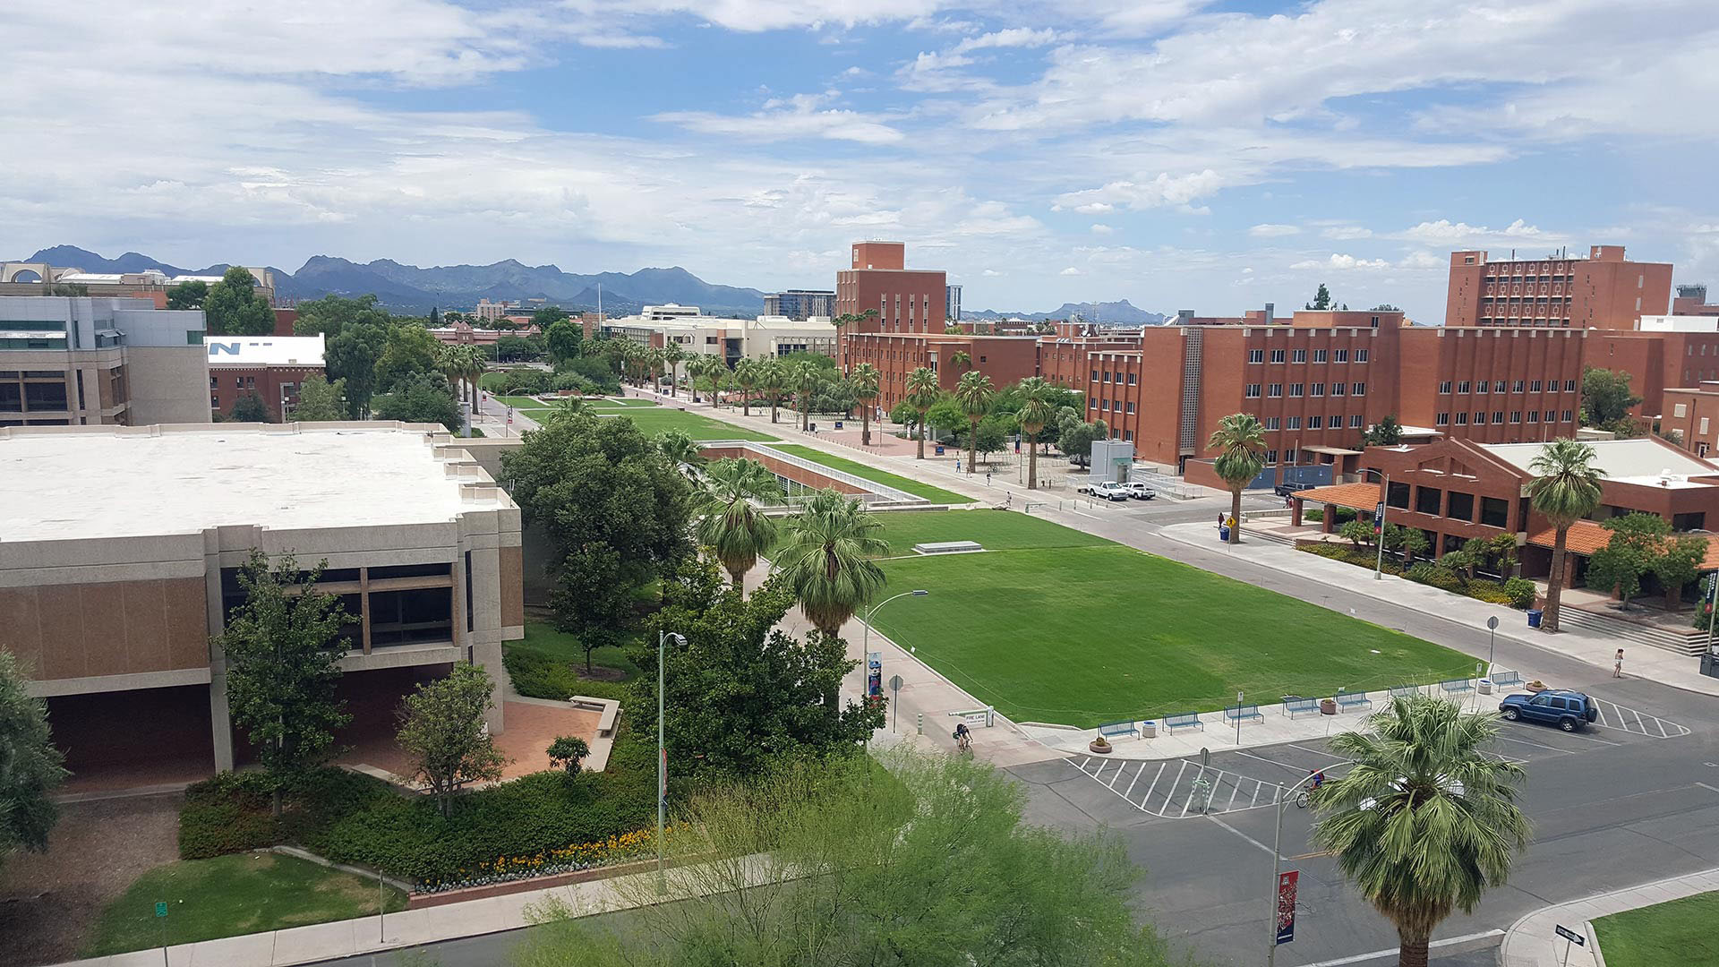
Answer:
<svg viewBox="0 0 1719 967"><path fill-rule="evenodd" d="M385 888L388 910L406 895ZM277 853L234 853L151 869L101 912L84 957L162 945L155 905L167 903L167 943L376 915L376 881Z"/></svg>

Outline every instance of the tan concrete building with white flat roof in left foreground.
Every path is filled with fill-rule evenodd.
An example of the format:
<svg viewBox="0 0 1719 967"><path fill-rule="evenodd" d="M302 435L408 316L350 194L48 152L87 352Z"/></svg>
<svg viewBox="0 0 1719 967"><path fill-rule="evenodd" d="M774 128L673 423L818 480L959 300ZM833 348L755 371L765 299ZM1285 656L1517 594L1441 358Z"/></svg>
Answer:
<svg viewBox="0 0 1719 967"><path fill-rule="evenodd" d="M244 761L211 637L253 547L327 561L320 587L352 616L352 730L392 728L456 661L500 683L502 642L524 635L519 509L442 427L0 428L0 647L74 773Z"/></svg>

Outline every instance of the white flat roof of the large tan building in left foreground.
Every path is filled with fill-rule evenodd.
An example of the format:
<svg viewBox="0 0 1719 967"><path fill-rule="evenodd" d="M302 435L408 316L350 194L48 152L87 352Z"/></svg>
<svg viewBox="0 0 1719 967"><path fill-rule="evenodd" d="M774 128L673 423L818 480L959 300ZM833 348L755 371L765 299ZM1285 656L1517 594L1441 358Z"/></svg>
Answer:
<svg viewBox="0 0 1719 967"><path fill-rule="evenodd" d="M444 523L512 506L462 499L423 430L344 427L0 435L0 542Z"/></svg>

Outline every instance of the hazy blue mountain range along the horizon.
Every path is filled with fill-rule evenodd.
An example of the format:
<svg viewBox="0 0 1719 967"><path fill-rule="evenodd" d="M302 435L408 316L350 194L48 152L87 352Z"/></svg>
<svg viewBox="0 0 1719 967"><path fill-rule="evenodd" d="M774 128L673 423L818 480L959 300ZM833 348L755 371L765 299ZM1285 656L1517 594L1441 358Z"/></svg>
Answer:
<svg viewBox="0 0 1719 967"><path fill-rule="evenodd" d="M105 258L70 244L45 248L17 262L46 262L84 272L143 272L158 268L168 275L220 275L227 263L203 268L170 265L158 258L127 251ZM478 299L545 299L569 310L595 310L602 286L603 311L626 315L646 305L679 303L700 306L707 315L755 317L763 311L763 293L737 286L705 282L686 268L639 268L638 272L598 272L581 275L555 265L524 265L504 260L490 265L402 265L392 258L351 262L332 255L313 255L297 272L273 265L275 298L282 301L318 299L321 296L375 294L390 310L425 313L430 306L469 308ZM1128 299L1116 303L1062 303L1038 313L1002 313L995 310L964 311L963 318L1071 318L1109 325L1160 325L1162 313L1136 308Z"/></svg>

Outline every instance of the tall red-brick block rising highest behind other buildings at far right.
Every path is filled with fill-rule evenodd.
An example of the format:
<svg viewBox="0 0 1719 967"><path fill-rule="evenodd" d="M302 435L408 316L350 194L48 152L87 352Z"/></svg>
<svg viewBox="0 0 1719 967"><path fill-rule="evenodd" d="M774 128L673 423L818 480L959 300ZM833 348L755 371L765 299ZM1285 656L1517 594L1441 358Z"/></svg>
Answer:
<svg viewBox="0 0 1719 967"><path fill-rule="evenodd" d="M1444 325L1635 329L1671 303L1671 263L1628 262L1621 244L1587 258L1509 258L1453 251Z"/></svg>

